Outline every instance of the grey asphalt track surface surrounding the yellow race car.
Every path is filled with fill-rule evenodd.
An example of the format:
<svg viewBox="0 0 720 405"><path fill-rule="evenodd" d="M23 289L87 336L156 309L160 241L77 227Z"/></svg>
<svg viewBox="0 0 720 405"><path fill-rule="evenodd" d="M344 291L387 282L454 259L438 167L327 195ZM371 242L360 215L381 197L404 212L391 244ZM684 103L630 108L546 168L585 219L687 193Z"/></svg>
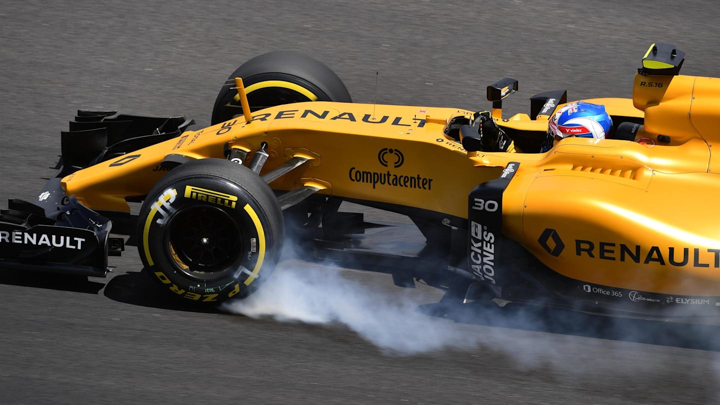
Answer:
<svg viewBox="0 0 720 405"><path fill-rule="evenodd" d="M75 110L202 128L228 74L271 50L324 61L356 102L487 109L485 86L512 76L521 94L506 107L523 112L551 89L630 97L655 41L685 50L683 73L718 76L719 12L715 1L0 0L0 207L36 197ZM112 265L92 280L0 270L0 404L720 403L713 326L490 309L453 321L415 311L440 297L422 285L292 262L346 295L305 308L297 282L278 308L256 308L266 316L203 312L158 295L134 248Z"/></svg>

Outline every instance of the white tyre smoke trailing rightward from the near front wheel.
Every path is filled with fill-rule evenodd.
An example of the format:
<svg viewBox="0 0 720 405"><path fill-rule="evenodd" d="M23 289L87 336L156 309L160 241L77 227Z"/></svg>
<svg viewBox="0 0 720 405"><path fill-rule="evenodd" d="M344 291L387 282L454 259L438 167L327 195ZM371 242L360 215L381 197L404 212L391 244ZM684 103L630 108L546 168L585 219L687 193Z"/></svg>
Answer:
<svg viewBox="0 0 720 405"><path fill-rule="evenodd" d="M387 277L384 282L389 286L380 288L366 282L382 277ZM468 318L456 322L458 319L418 311L423 304L437 303L441 290L423 285L405 289L391 283L389 275L359 274L332 265L289 260L279 264L260 290L243 301L226 304L224 309L253 319L343 325L385 355L462 349L482 357L483 353L500 352L507 356L504 362L508 367L552 365L575 372L595 363L587 352L587 340L577 344L577 337L541 331L548 322L540 314L546 312L544 309L523 307L508 313L507 308L489 303L467 308ZM564 363L567 355L577 362Z"/></svg>

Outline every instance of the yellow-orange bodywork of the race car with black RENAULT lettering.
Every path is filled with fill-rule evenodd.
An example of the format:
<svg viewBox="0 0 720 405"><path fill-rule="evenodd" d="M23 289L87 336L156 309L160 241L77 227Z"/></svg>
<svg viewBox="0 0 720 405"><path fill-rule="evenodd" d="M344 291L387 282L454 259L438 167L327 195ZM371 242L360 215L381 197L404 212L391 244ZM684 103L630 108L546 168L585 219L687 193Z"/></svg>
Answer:
<svg viewBox="0 0 720 405"><path fill-rule="evenodd" d="M247 164L267 143L261 174L294 156L311 159L271 182L274 190L313 184L320 194L465 219L470 190L517 161L503 194L503 233L555 272L617 288L720 295L720 163L711 153L720 79L638 74L633 99L586 101L613 116L644 117L638 138L646 140L566 138L547 153L468 152L443 129L471 111L305 102L187 131L62 184L89 208L128 211L126 198L146 195L166 173L168 154L223 158L234 146L251 152ZM546 120L523 114L498 123L539 137L547 130ZM547 228L564 244L557 256L538 241Z"/></svg>

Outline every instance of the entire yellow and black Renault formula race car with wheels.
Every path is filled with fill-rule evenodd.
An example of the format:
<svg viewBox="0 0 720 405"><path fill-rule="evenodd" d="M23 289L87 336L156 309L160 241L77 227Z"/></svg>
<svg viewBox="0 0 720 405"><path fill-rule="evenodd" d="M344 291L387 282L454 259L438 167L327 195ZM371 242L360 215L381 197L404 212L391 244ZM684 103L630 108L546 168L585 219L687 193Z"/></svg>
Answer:
<svg viewBox="0 0 720 405"><path fill-rule="evenodd" d="M544 153L567 94L536 94L529 115L503 119L518 82L498 81L492 117L525 153L492 153L460 130L472 111L355 104L322 63L261 55L222 86L208 128L79 111L58 174L2 211L0 268L102 277L108 255L136 244L172 295L221 303L256 290L287 237L464 303L715 316L720 79L680 76L683 61L653 44L632 99L586 100L605 105L613 133ZM414 226L364 221L345 201Z"/></svg>

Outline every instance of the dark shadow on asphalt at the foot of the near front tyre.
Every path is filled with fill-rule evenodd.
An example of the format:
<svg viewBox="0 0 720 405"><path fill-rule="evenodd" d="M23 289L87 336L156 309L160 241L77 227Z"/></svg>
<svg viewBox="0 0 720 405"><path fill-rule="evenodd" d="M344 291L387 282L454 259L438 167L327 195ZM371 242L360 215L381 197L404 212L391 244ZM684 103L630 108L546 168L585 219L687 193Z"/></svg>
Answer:
<svg viewBox="0 0 720 405"><path fill-rule="evenodd" d="M105 286L104 295L113 301L150 308L198 313L223 313L215 306L199 306L194 301L179 300L160 288L144 272L117 275Z"/></svg>

